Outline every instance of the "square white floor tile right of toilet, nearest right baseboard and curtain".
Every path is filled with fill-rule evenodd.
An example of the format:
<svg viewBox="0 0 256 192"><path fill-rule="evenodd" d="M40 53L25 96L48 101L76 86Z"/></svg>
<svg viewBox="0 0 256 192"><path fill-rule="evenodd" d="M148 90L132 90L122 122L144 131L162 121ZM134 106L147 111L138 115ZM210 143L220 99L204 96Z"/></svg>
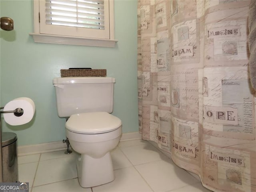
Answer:
<svg viewBox="0 0 256 192"><path fill-rule="evenodd" d="M164 160L167 157L157 150L150 143L120 148L133 165L139 165L157 160ZM168 158L167 158L168 159Z"/></svg>

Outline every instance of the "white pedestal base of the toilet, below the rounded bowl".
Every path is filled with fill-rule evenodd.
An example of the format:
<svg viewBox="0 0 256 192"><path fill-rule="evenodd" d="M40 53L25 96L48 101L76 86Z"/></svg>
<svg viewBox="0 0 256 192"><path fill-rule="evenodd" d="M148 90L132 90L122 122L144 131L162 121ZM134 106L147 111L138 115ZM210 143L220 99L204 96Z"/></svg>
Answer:
<svg viewBox="0 0 256 192"><path fill-rule="evenodd" d="M102 158L81 154L76 162L76 169L79 184L84 188L106 184L115 178L110 152Z"/></svg>

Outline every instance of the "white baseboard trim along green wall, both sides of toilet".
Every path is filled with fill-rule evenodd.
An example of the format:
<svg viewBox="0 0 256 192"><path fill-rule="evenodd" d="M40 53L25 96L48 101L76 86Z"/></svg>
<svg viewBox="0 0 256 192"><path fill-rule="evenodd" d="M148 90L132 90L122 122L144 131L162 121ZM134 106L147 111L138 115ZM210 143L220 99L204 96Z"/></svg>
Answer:
<svg viewBox="0 0 256 192"><path fill-rule="evenodd" d="M127 141L127 140L134 140L134 139L141 139L141 134L139 132L123 133L120 141ZM24 156L24 155L32 155L32 154L66 150L66 148L67 148L66 143L63 143L62 141L34 144L34 145L24 145L24 146L18 146L17 154L18 156Z"/></svg>

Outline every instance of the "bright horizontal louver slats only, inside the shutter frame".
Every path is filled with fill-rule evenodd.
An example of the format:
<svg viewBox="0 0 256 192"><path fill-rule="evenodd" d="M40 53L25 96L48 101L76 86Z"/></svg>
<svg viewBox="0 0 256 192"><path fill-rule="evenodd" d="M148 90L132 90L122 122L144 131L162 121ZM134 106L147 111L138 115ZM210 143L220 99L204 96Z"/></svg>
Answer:
<svg viewBox="0 0 256 192"><path fill-rule="evenodd" d="M46 24L104 29L104 1L46 0Z"/></svg>

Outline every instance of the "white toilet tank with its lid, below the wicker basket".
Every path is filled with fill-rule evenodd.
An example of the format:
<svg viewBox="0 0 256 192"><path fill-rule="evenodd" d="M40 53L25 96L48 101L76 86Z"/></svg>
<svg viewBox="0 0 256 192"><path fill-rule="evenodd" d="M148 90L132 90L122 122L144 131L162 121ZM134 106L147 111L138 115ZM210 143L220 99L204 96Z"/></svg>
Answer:
<svg viewBox="0 0 256 192"><path fill-rule="evenodd" d="M115 82L112 77L54 78L58 116L70 117L84 112L112 113Z"/></svg>

